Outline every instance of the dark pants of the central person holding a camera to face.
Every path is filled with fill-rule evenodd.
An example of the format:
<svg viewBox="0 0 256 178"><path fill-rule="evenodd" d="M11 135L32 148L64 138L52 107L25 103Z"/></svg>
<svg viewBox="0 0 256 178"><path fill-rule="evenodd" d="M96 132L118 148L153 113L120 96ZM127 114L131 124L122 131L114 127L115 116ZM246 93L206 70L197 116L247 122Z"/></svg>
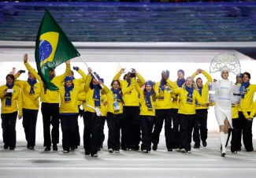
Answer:
<svg viewBox="0 0 256 178"><path fill-rule="evenodd" d="M139 106L124 106L124 135L126 148L139 149L140 123Z"/></svg>

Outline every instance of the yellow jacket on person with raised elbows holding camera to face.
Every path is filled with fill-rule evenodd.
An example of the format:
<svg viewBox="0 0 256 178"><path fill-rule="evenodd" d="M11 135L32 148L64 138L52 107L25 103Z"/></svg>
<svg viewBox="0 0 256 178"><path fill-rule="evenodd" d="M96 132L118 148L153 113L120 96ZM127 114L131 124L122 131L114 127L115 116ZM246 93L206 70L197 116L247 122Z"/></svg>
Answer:
<svg viewBox="0 0 256 178"><path fill-rule="evenodd" d="M117 75L113 77L113 80L119 80L121 76L120 72L117 72ZM140 74L137 72L136 76L138 77L138 84L139 87L142 87L143 84L146 82L143 78L143 76L140 76ZM128 82L126 80L119 80L121 83L121 88L124 90L126 87L128 87ZM124 99L124 106L139 106L139 93L135 89L133 89L131 92L125 94L123 96Z"/></svg>

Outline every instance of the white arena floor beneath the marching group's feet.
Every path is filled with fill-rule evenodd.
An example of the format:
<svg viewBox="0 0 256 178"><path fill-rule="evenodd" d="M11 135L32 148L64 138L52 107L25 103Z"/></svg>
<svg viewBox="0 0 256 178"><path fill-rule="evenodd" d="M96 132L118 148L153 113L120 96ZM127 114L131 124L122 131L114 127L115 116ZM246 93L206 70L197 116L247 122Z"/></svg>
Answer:
<svg viewBox="0 0 256 178"><path fill-rule="evenodd" d="M216 132L210 132L208 146L192 149L191 154L168 152L164 135L158 150L150 154L124 150L109 154L105 141L98 158L85 156L83 146L69 154L62 153L61 144L58 151L45 152L42 141L35 150L20 140L16 150L4 150L1 139L0 177L255 177L256 173L255 151L231 154L228 147L227 156L221 158Z"/></svg>

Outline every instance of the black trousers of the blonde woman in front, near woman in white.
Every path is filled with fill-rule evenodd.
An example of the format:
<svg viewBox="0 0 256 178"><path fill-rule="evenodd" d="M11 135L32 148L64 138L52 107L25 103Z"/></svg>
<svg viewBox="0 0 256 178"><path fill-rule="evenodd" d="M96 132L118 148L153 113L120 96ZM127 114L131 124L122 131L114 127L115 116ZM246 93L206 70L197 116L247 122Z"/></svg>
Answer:
<svg viewBox="0 0 256 178"><path fill-rule="evenodd" d="M192 131L195 124L195 114L180 114L180 147L191 150Z"/></svg>

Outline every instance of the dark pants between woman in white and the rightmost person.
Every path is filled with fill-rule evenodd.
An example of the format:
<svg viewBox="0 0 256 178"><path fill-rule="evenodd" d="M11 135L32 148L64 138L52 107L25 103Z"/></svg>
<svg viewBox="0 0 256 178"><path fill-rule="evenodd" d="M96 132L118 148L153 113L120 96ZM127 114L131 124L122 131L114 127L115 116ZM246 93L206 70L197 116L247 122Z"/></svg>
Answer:
<svg viewBox="0 0 256 178"><path fill-rule="evenodd" d="M242 121L240 118L232 119L232 139L231 139L231 151L241 150L241 136L242 136Z"/></svg>

